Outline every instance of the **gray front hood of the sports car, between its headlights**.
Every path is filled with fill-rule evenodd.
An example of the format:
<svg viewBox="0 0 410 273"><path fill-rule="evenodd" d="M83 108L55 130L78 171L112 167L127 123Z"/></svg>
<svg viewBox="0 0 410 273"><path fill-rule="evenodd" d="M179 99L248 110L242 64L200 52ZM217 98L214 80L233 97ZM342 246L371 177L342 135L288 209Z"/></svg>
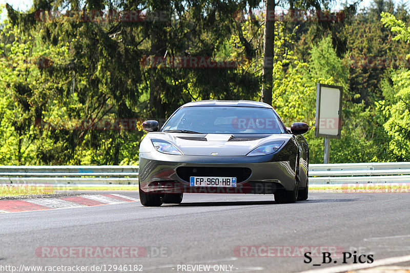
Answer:
<svg viewBox="0 0 410 273"><path fill-rule="evenodd" d="M264 143L278 140L287 142L292 135L182 134L152 132L149 133L147 137L150 139L167 140L174 144L184 155L244 156Z"/></svg>

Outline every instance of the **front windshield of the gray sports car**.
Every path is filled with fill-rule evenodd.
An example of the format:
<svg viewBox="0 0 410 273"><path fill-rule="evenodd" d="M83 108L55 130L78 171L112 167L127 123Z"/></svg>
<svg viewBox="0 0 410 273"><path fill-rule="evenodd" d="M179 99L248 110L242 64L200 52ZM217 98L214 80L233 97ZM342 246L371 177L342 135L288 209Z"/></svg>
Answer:
<svg viewBox="0 0 410 273"><path fill-rule="evenodd" d="M256 107L194 106L179 109L164 131L203 134L283 134L285 128L272 109Z"/></svg>

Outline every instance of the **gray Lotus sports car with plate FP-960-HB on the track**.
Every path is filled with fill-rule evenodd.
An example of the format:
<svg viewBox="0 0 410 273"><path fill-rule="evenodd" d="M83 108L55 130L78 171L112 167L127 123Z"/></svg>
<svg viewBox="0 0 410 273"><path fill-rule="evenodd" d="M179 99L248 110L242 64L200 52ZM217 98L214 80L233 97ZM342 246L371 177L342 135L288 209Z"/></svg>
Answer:
<svg viewBox="0 0 410 273"><path fill-rule="evenodd" d="M273 194L277 203L308 199L308 124L286 128L263 102L204 100L176 110L139 146L144 206L181 203L183 193Z"/></svg>

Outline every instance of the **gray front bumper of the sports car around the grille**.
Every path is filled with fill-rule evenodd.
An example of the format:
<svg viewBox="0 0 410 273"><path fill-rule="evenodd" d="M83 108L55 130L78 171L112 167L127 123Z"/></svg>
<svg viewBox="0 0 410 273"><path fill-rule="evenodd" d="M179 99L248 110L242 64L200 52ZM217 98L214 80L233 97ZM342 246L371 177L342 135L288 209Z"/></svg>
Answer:
<svg viewBox="0 0 410 273"><path fill-rule="evenodd" d="M187 176L181 176L180 167L207 170L206 175L202 172L199 176L225 177L237 177L233 170L247 169L249 176L238 180L236 187L197 187L190 186ZM295 174L296 157L286 158L280 154L234 157L139 154L139 186L146 193L273 194L294 190Z"/></svg>

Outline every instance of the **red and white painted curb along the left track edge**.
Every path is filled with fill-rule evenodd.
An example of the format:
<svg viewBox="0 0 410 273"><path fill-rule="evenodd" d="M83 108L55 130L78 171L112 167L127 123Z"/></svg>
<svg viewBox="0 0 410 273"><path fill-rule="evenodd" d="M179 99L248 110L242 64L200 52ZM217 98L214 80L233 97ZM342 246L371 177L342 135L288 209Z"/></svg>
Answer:
<svg viewBox="0 0 410 273"><path fill-rule="evenodd" d="M112 205L135 201L138 201L138 199L119 194L0 200L0 213L16 213L29 211L43 211L45 209L56 208Z"/></svg>

